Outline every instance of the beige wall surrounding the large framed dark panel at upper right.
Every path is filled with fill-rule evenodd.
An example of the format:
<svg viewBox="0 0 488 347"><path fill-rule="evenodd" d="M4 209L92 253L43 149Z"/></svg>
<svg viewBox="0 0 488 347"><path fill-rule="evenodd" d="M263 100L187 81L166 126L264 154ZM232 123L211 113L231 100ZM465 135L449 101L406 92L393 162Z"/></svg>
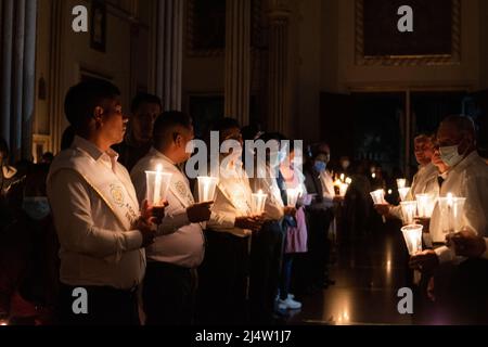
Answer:
<svg viewBox="0 0 488 347"><path fill-rule="evenodd" d="M362 89L488 87L488 4L462 0L462 62L451 66L369 67L355 64L355 0L299 1L297 69L299 136L319 140L320 92ZM481 29L479 30L479 26Z"/></svg>

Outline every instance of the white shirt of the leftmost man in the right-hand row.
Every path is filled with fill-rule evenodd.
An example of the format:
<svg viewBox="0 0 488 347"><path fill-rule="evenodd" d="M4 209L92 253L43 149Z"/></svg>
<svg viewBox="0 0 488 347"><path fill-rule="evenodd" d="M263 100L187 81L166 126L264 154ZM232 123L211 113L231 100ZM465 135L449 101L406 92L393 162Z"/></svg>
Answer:
<svg viewBox="0 0 488 347"><path fill-rule="evenodd" d="M413 182L404 201L412 202L419 194L431 194L434 198L439 196L439 184L437 178L439 170L434 164L420 166L419 171L413 177ZM395 206L390 209L390 215L401 219L401 206Z"/></svg>

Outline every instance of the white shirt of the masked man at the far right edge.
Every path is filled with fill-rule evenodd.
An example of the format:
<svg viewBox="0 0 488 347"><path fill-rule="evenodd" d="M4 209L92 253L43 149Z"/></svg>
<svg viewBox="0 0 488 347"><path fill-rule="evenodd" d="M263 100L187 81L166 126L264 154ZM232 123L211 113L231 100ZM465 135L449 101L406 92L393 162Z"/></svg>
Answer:
<svg viewBox="0 0 488 347"><path fill-rule="evenodd" d="M464 227L488 236L488 166L476 152L470 154L458 166L447 172L440 196L449 193L457 197L465 197ZM431 234L434 242L444 242L446 235L441 230L441 218L438 205L431 220ZM442 246L436 249L440 262L462 260L453 250Z"/></svg>

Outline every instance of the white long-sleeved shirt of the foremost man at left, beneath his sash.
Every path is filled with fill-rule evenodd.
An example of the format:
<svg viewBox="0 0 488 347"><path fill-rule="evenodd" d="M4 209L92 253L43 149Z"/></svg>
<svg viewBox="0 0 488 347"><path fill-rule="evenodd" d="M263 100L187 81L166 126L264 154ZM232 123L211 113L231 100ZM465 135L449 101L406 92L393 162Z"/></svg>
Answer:
<svg viewBox="0 0 488 347"><path fill-rule="evenodd" d="M114 151L102 152L79 137L68 151L74 160L89 155L103 163L126 189L133 191L129 174L117 163ZM141 283L145 271L141 233L124 230L80 175L70 169L53 172L48 180L48 196L61 243L61 282L118 290L130 290Z"/></svg>

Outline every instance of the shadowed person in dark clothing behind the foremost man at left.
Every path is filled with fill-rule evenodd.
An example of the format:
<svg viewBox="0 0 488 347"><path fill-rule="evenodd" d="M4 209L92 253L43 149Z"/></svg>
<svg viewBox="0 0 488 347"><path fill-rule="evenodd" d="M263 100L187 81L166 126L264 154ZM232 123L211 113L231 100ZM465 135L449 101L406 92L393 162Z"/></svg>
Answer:
<svg viewBox="0 0 488 347"><path fill-rule="evenodd" d="M0 314L9 324L54 322L59 244L46 196L49 166L29 168L22 215L0 236Z"/></svg>

